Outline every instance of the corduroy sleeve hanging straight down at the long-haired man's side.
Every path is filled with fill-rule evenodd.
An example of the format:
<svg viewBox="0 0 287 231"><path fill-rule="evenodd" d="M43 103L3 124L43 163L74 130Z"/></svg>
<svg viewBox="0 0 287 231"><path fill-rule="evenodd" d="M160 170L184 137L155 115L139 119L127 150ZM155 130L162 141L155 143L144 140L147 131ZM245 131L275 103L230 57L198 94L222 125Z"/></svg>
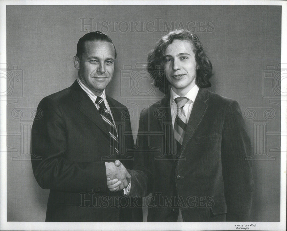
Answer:
<svg viewBox="0 0 287 231"><path fill-rule="evenodd" d="M222 134L226 221L249 221L254 183L246 157L251 156L251 152L240 107L232 101L227 109Z"/></svg>

